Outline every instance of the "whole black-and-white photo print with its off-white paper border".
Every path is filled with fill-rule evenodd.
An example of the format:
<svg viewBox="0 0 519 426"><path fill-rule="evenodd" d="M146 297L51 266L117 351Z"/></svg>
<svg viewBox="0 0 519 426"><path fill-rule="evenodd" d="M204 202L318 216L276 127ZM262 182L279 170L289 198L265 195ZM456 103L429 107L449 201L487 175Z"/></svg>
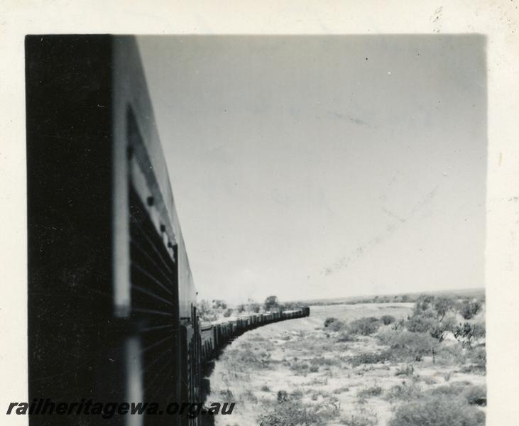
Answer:
<svg viewBox="0 0 519 426"><path fill-rule="evenodd" d="M6 422L493 425L519 158L492 70L512 59L429 6L422 33L18 31Z"/></svg>

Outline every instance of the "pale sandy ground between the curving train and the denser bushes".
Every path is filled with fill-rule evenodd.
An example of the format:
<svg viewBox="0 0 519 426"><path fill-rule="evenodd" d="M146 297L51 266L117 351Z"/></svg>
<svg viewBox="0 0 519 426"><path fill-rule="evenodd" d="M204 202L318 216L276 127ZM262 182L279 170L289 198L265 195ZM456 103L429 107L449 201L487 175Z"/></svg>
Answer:
<svg viewBox="0 0 519 426"><path fill-rule="evenodd" d="M337 334L323 327L327 317L346 322L382 315L398 319L408 315L412 307L412 303L315 306L310 317L245 333L224 349L210 377L208 403L236 401L232 415L217 416L215 425L257 425L258 413L277 400L279 391L285 391L297 393L302 403L334 410L329 426L347 425L344 419L359 411L383 426L399 403L388 398L388 390L395 385L413 383L427 389L456 381L484 384L482 374L461 373L459 365L433 364L427 357L413 363L413 373L408 375L396 375L409 365L405 363L353 366L349 356L383 349L378 339L338 342ZM373 394L370 388L375 388Z"/></svg>

